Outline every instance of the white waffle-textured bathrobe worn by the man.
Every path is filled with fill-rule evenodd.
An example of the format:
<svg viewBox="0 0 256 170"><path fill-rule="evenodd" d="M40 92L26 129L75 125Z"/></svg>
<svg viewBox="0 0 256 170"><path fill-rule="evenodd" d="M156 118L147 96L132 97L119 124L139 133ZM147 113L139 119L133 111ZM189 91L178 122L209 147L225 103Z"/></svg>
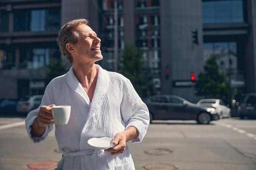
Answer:
<svg viewBox="0 0 256 170"><path fill-rule="evenodd" d="M90 102L73 68L53 79L44 93L41 105L70 105L67 125L55 125L55 137L64 153L55 170L134 170L128 147L122 154L112 156L95 150L87 141L92 137L111 137L130 126L139 136L131 143L141 142L149 124L148 108L134 90L131 82L121 74L99 69L93 100ZM39 107L40 108L40 107ZM39 108L26 118L26 130L34 143L42 142L52 131L47 126L41 137L31 137L30 130Z"/></svg>

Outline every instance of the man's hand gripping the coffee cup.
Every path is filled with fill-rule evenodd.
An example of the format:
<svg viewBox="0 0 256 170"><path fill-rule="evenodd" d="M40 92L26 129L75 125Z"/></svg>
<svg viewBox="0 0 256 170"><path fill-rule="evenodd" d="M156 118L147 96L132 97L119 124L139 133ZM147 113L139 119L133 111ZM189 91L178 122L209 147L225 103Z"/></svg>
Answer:
<svg viewBox="0 0 256 170"><path fill-rule="evenodd" d="M54 120L52 117L52 106L55 106L55 105L41 106L38 112L38 117L37 117L38 124L41 127L46 127L54 123Z"/></svg>

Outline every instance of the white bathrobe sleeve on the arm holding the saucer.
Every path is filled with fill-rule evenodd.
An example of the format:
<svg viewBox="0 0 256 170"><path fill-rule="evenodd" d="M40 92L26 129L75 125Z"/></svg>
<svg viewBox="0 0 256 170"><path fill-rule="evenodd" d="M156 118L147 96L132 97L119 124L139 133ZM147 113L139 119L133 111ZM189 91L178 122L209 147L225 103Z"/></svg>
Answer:
<svg viewBox="0 0 256 170"><path fill-rule="evenodd" d="M126 123L125 130L130 126L134 126L139 132L139 136L132 139L131 143L141 142L148 129L149 112L147 106L141 100L129 79L125 79L120 109L122 118Z"/></svg>

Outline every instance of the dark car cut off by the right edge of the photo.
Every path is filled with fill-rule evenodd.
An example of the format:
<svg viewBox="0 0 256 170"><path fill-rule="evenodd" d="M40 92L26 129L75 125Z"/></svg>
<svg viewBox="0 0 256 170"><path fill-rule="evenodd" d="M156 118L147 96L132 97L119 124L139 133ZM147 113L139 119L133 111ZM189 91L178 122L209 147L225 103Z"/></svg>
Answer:
<svg viewBox="0 0 256 170"><path fill-rule="evenodd" d="M238 113L241 119L256 117L256 94L242 94Z"/></svg>

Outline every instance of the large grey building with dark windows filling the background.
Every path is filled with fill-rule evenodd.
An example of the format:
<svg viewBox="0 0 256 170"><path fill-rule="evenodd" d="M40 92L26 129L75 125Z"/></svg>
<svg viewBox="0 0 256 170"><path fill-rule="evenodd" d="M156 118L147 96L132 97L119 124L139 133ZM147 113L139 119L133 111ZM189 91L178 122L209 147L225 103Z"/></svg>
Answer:
<svg viewBox="0 0 256 170"><path fill-rule="evenodd" d="M99 64L113 71L113 7L114 0L0 0L0 81L5 82L0 98L28 93L29 79L35 81L32 87L43 87L45 65L60 57L58 29L75 18L89 20L102 39ZM143 49L145 69L162 94L196 102L199 97L184 82L192 72L196 77L212 54L231 84L244 82L233 88L256 92L255 0L118 0L118 25L119 51L125 44Z"/></svg>

